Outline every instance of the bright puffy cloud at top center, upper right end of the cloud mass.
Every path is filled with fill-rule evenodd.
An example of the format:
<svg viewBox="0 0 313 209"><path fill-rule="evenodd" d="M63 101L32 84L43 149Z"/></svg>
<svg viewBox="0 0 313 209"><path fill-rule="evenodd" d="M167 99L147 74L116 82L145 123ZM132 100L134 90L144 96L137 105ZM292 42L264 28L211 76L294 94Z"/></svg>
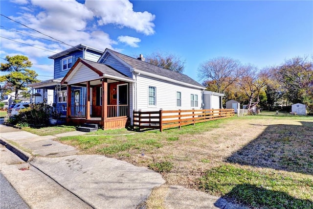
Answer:
<svg viewBox="0 0 313 209"><path fill-rule="evenodd" d="M86 0L85 5L98 18L99 25L113 23L135 29L145 35L155 33L155 15L147 11L135 12L129 0Z"/></svg>

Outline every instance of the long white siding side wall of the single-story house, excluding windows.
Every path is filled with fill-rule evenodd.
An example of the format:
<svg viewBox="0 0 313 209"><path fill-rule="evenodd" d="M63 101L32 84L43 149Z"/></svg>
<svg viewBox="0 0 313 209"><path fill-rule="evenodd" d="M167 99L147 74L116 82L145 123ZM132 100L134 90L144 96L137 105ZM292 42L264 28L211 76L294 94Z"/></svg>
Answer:
<svg viewBox="0 0 313 209"><path fill-rule="evenodd" d="M156 106L148 105L149 86L156 87ZM181 107L177 107L176 93L181 92ZM202 96L200 89L179 86L174 83L156 80L143 75L137 77L138 110L158 111L163 110L196 110L201 109ZM190 94L198 95L198 107L191 107Z"/></svg>

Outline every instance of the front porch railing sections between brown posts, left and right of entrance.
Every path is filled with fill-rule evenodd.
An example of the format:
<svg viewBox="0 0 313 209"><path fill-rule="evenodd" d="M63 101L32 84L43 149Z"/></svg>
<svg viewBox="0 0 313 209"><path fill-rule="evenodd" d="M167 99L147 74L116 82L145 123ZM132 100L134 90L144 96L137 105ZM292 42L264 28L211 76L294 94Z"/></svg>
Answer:
<svg viewBox="0 0 313 209"><path fill-rule="evenodd" d="M107 111L108 117L128 116L128 105L108 105ZM70 112L71 117L86 117L86 105L72 105Z"/></svg>

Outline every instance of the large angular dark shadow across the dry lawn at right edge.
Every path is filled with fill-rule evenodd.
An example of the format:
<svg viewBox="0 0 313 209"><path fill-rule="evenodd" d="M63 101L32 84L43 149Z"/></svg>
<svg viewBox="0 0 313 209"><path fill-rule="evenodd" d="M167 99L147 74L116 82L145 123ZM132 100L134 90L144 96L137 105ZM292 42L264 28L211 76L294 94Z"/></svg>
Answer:
<svg viewBox="0 0 313 209"><path fill-rule="evenodd" d="M313 174L313 122L269 125L245 147L227 158L229 163ZM257 128L257 124L253 124Z"/></svg>

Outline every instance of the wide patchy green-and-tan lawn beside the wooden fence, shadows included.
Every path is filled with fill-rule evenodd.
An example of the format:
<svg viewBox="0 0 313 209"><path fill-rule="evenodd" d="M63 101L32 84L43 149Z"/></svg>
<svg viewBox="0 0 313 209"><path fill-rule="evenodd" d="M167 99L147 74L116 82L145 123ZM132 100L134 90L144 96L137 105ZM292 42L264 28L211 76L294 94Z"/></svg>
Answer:
<svg viewBox="0 0 313 209"><path fill-rule="evenodd" d="M296 207L305 208L313 202L312 130L313 117L266 113L163 133L59 140L85 154L102 154L150 167L161 172L168 185L201 188L250 207L288 208L292 201ZM212 177L217 174L220 182ZM256 200L259 193L266 195Z"/></svg>

